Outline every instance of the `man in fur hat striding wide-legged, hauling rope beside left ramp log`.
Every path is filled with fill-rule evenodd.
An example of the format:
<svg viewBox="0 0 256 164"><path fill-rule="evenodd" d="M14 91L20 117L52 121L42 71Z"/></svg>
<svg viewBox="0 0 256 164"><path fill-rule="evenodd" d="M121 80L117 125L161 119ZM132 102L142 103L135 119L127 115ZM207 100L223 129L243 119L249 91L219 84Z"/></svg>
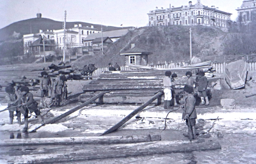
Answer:
<svg viewBox="0 0 256 164"><path fill-rule="evenodd" d="M44 124L44 120L40 114L38 109L38 103L33 99L33 94L29 92L29 88L27 86L21 86L21 99L20 99L20 111L24 115L24 128L23 132L28 130L28 114L35 113L41 124Z"/></svg>

